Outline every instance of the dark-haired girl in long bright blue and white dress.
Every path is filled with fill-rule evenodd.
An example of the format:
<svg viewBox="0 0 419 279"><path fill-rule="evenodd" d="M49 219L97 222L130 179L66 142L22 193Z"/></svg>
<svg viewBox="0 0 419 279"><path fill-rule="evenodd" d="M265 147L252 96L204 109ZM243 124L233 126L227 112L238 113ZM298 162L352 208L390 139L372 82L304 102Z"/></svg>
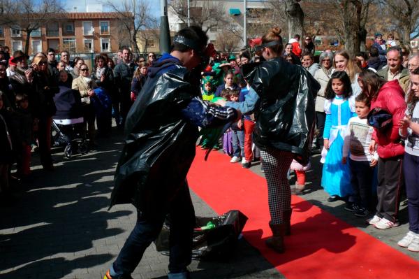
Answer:
<svg viewBox="0 0 419 279"><path fill-rule="evenodd" d="M345 71L335 71L325 90L324 147L321 162L323 176L321 185L330 194L328 201L337 201L352 194L351 170L342 164L342 148L346 125L355 116L355 99L352 96L351 80Z"/></svg>

